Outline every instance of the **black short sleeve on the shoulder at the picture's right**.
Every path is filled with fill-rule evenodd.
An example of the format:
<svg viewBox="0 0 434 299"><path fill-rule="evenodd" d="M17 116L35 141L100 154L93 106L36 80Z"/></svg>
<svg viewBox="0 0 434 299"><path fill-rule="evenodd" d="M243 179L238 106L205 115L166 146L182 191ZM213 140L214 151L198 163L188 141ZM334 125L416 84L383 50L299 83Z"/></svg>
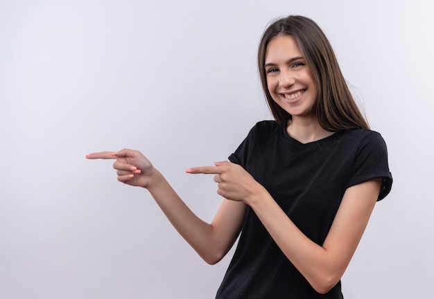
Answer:
<svg viewBox="0 0 434 299"><path fill-rule="evenodd" d="M377 132L370 132L358 147L347 188L376 178L383 179L378 198L380 201L392 188L392 174L389 171L388 150L383 138Z"/></svg>

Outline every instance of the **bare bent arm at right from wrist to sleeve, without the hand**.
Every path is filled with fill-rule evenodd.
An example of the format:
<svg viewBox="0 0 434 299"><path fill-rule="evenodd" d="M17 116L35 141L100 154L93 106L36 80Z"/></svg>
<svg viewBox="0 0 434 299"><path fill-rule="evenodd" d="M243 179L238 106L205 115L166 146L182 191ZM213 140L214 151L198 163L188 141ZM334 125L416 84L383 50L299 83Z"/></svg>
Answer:
<svg viewBox="0 0 434 299"><path fill-rule="evenodd" d="M284 255L319 293L329 291L345 272L374 208L379 184L349 189L322 246L306 237L265 189L249 202Z"/></svg>

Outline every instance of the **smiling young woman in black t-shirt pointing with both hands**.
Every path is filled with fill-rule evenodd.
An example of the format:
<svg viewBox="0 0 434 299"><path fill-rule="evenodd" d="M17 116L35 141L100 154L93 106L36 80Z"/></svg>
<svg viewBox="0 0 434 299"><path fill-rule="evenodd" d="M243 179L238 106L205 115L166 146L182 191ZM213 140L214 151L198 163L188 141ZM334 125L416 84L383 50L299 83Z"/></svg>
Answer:
<svg viewBox="0 0 434 299"><path fill-rule="evenodd" d="M275 120L257 123L230 162L186 170L215 174L225 199L211 224L140 152L87 158L115 159L118 180L146 188L209 264L241 233L216 298L342 298L340 278L376 201L392 185L385 143L370 131L311 19L271 24L258 62Z"/></svg>

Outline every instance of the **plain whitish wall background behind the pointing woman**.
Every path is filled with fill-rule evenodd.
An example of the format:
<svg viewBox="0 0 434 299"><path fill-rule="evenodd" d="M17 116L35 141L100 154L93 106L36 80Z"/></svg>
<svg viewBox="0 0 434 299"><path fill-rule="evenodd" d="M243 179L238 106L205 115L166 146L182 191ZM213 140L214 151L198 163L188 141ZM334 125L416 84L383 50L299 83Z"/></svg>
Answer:
<svg viewBox="0 0 434 299"><path fill-rule="evenodd" d="M408 2L408 4L404 4ZM433 298L432 1L0 0L0 298L214 298L209 266L146 190L85 154L140 149L194 212L258 120L257 45L275 17L328 35L392 192L342 278L346 298Z"/></svg>

